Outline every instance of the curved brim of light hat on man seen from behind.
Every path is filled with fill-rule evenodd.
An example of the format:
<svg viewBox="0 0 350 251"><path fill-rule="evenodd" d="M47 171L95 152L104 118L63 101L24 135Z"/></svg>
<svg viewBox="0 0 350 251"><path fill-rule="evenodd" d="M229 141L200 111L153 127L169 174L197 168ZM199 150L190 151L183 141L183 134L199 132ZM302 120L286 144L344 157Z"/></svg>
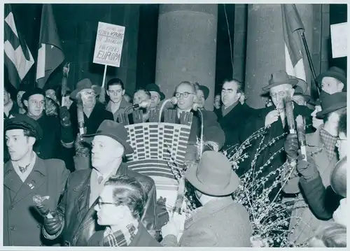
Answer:
<svg viewBox="0 0 350 251"><path fill-rule="evenodd" d="M195 189L200 190L200 192L204 194L208 194L211 196L227 196L232 194L239 187L239 178L237 174L231 169L231 178L227 187L224 189L222 187L211 186L210 184L203 184L197 178L197 168L198 164L193 164L188 167L185 178L190 182Z"/></svg>

